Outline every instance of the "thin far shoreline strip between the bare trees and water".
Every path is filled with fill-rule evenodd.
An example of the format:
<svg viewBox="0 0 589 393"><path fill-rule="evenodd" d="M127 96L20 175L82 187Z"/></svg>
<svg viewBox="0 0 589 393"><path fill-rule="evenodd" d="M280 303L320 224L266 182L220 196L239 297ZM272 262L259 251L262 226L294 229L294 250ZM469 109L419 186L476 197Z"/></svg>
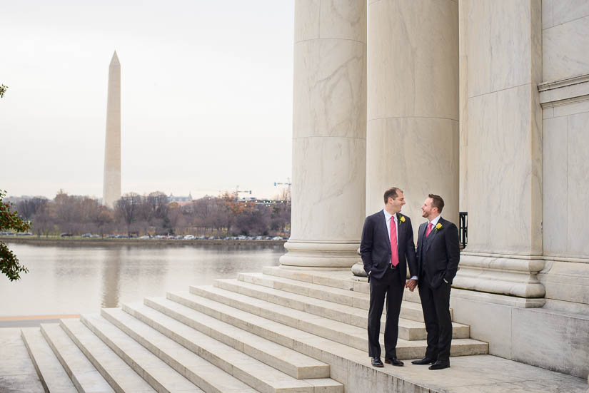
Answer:
<svg viewBox="0 0 589 393"><path fill-rule="evenodd" d="M114 239L114 238L40 238L36 236L0 236L3 243L29 245L283 245L286 240L223 240L223 239Z"/></svg>

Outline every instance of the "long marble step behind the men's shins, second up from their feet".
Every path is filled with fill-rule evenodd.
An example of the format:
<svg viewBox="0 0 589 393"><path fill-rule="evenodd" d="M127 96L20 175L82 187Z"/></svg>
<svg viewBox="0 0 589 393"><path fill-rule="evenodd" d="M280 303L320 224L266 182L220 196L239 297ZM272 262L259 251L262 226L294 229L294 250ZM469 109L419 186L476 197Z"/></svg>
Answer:
<svg viewBox="0 0 589 393"><path fill-rule="evenodd" d="M243 277L252 276L244 275ZM263 277L261 279L264 280ZM349 305L343 305L340 302L331 302L328 300L321 300L316 297L309 297L308 295L299 295L293 292L286 292L284 290L275 289L273 287L269 287L270 282L268 281L266 281L266 284L268 285L257 285L241 280L216 280L214 285L224 290L255 297L256 299L266 300L268 302L290 307L295 310L309 312L313 315L327 317L331 320L344 322L349 325L362 328L366 328L366 326L368 326L367 310ZM291 283L288 283L288 285L291 285L291 289L294 289L296 286ZM315 291L314 294L316 296L321 295L320 289L313 288L313 291ZM366 297L366 295L363 296ZM401 306L401 315L408 314L417 314L418 317L423 319L421 305L411 302L403 302ZM383 315L381 318L381 332L384 332L385 324L386 315ZM415 320L408 320L404 317L401 317L399 319L398 327L398 337L402 338L403 340L426 340L426 325L424 325L423 322L416 322ZM453 338L468 337L470 337L470 327L459 323L453 323Z"/></svg>

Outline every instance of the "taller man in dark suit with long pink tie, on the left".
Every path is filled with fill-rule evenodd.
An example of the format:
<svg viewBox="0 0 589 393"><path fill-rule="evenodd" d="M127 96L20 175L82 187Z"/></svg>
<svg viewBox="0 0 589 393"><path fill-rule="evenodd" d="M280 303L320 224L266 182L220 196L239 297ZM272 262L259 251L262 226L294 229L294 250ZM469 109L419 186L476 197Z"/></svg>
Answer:
<svg viewBox="0 0 589 393"><path fill-rule="evenodd" d="M399 312L406 285L416 286L418 265L411 220L402 215L405 205L403 190L393 187L385 191L383 210L369 215L364 221L360 254L370 282L370 310L368 310L368 356L374 367L381 361L381 316L386 296L385 362L403 366L397 359ZM411 280L406 281L407 265Z"/></svg>

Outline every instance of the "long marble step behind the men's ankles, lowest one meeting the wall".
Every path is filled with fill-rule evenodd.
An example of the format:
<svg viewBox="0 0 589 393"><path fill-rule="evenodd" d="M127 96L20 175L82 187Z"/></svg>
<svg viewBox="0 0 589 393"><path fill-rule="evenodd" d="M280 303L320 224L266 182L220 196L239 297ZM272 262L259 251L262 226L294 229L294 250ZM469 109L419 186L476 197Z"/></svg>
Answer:
<svg viewBox="0 0 589 393"><path fill-rule="evenodd" d="M195 305L200 300L198 297L205 297L208 300L214 300L223 303L244 312L279 322L289 327L311 333L319 337L327 338L334 342L339 342L350 347L366 350L368 348L368 338L366 328L348 325L343 322L329 320L325 317L313 315L308 312L293 310L288 307L276 305L275 303L266 302L265 300L255 299L236 292L230 292L213 286L191 287L191 294L197 295L196 298L186 297L188 294L181 294L183 299L173 298L177 293L168 294L168 298L180 302L187 307L194 308L200 312L211 315L207 311L201 310L199 305ZM188 300L188 301L186 301ZM214 315L211 315L214 316ZM222 320L221 318L218 318ZM225 321L228 322L228 321ZM230 322L231 323L231 322ZM243 327L242 327L243 328ZM383 344L383 335L381 334L381 345ZM267 338L267 337L266 337ZM397 356L399 359L415 359L422 357L426 350L424 340L408 341L398 339ZM383 350L384 352L384 350ZM462 356L465 354L480 354L488 352L488 344L470 339L456 339L452 342L451 353L453 356Z"/></svg>

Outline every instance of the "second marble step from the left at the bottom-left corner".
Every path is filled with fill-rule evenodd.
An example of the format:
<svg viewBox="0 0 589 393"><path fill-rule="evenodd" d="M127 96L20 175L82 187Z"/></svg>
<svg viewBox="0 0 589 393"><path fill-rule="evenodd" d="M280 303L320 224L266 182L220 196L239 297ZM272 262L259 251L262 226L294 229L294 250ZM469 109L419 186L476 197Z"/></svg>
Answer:
<svg viewBox="0 0 589 393"><path fill-rule="evenodd" d="M78 392L114 392L59 324L41 324L41 333Z"/></svg>

